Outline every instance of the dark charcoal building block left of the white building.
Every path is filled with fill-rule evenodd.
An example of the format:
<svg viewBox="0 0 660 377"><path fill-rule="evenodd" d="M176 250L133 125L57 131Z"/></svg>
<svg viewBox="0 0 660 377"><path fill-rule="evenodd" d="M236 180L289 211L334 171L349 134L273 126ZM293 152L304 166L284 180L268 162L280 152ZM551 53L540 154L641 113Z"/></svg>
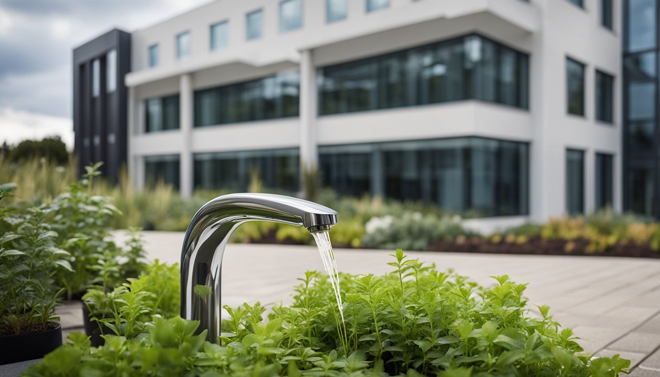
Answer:
<svg viewBox="0 0 660 377"><path fill-rule="evenodd" d="M131 34L114 29L73 50L74 152L79 172L90 162L117 181L126 163L127 101L124 76L131 71Z"/></svg>

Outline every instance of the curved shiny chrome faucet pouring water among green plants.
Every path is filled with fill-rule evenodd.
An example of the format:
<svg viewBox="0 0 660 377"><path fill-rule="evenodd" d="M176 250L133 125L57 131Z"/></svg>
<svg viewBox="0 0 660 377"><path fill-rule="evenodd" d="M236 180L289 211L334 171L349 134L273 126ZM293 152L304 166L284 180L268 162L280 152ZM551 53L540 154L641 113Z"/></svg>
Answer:
<svg viewBox="0 0 660 377"><path fill-rule="evenodd" d="M267 193L223 195L197 211L183 238L181 316L199 320L197 333L207 329L207 340L213 343L220 335L224 248L240 224L255 220L302 225L319 232L337 223L337 212L311 201ZM211 294L195 293L196 285L211 287Z"/></svg>

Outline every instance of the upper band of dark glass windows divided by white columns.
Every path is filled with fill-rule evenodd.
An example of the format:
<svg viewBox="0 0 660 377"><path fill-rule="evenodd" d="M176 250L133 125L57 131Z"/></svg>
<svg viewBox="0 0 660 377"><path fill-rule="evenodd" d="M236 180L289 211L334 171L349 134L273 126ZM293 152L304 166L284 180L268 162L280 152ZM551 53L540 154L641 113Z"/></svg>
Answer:
<svg viewBox="0 0 660 377"><path fill-rule="evenodd" d="M469 35L318 69L319 115L478 99L527 108L529 57ZM298 71L195 91L195 127L298 116ZM178 96L146 101L145 131L179 127Z"/></svg>

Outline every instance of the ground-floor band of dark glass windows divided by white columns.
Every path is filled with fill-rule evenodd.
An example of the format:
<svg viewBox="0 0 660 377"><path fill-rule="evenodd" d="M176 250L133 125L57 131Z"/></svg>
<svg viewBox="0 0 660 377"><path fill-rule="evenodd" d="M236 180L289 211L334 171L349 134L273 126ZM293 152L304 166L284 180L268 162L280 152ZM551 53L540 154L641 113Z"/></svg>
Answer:
<svg viewBox="0 0 660 377"><path fill-rule="evenodd" d="M197 189L248 189L257 176L269 191L300 188L297 148L194 155ZM145 158L147 182L179 185L178 155ZM482 216L529 209L529 145L460 137L319 147L323 183L343 195L381 195L435 203Z"/></svg>

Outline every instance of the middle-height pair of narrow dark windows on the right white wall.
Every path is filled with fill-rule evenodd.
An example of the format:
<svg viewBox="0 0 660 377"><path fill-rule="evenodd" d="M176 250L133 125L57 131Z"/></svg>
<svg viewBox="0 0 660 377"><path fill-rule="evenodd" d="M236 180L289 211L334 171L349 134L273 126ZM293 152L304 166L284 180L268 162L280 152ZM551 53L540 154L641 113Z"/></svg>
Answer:
<svg viewBox="0 0 660 377"><path fill-rule="evenodd" d="M566 111L585 116L585 68L570 57L566 58ZM596 70L596 120L614 121L614 77Z"/></svg>

